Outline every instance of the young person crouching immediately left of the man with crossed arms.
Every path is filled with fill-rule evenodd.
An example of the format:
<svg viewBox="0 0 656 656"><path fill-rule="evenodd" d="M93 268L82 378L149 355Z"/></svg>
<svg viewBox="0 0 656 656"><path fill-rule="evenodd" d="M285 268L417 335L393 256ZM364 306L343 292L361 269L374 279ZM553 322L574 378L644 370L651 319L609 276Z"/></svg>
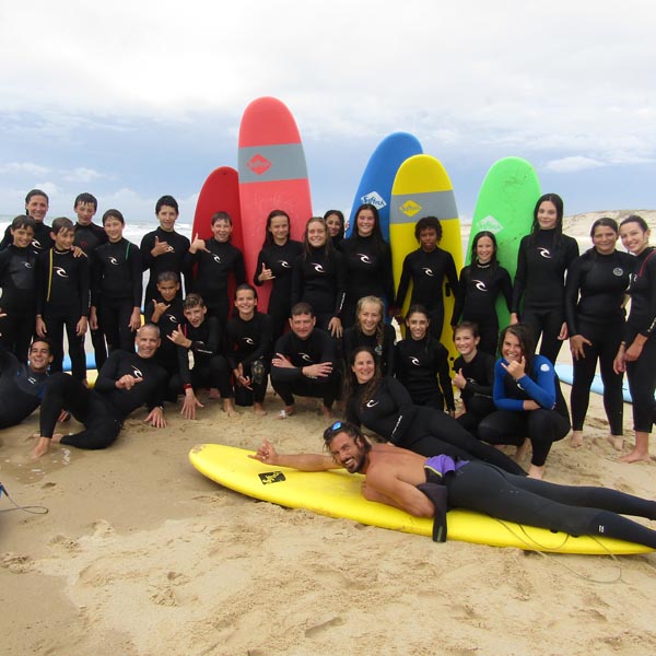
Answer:
<svg viewBox="0 0 656 656"><path fill-rule="evenodd" d="M237 316L227 321L227 364L235 382L237 406L253 406L257 415L267 413L268 368L271 356L271 317L257 312L257 292L247 283L235 291Z"/></svg>

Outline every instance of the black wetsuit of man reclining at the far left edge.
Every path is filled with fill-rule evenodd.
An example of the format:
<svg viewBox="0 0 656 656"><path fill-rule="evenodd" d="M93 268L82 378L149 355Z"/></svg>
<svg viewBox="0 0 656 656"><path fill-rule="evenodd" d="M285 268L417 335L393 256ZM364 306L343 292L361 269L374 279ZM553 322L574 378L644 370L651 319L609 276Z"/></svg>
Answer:
<svg viewBox="0 0 656 656"><path fill-rule="evenodd" d="M15 426L38 408L47 378L0 347L0 429Z"/></svg>

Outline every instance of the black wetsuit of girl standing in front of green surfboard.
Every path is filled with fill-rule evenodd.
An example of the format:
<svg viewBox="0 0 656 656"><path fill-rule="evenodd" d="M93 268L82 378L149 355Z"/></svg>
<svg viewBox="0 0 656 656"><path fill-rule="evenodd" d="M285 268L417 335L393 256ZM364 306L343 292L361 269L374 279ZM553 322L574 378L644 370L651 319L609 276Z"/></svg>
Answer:
<svg viewBox="0 0 656 656"><path fill-rule="evenodd" d="M508 312L513 303L511 274L500 266L475 262L460 271L460 294L454 305L452 326L476 321L481 338L478 350L496 355L499 345L499 318L496 298L503 294Z"/></svg>

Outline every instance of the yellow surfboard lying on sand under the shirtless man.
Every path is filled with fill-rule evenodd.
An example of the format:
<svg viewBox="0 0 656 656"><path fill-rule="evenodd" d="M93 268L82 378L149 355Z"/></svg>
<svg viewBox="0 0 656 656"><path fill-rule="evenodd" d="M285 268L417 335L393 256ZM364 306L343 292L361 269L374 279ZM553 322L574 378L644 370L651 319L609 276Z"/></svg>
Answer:
<svg viewBox="0 0 656 656"><path fill-rule="evenodd" d="M247 496L360 524L429 537L433 535L432 519L413 517L391 506L366 501L360 492L364 480L362 475L348 473L343 469L308 472L271 467L249 458L253 453L234 446L201 444L191 449L189 460L203 476ZM648 547L622 540L587 536L575 538L468 511L450 511L447 522L449 540L492 547L585 554L652 551Z"/></svg>

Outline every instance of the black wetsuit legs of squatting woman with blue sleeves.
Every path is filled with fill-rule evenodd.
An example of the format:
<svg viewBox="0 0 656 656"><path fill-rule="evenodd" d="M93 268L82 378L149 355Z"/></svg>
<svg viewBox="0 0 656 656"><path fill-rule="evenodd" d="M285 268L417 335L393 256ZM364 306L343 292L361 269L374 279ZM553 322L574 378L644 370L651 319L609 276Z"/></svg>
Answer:
<svg viewBox="0 0 656 656"><path fill-rule="evenodd" d="M542 467L551 445L570 432L570 419L555 410L496 410L481 421L478 436L490 444L522 446L528 437L532 444L531 464Z"/></svg>

